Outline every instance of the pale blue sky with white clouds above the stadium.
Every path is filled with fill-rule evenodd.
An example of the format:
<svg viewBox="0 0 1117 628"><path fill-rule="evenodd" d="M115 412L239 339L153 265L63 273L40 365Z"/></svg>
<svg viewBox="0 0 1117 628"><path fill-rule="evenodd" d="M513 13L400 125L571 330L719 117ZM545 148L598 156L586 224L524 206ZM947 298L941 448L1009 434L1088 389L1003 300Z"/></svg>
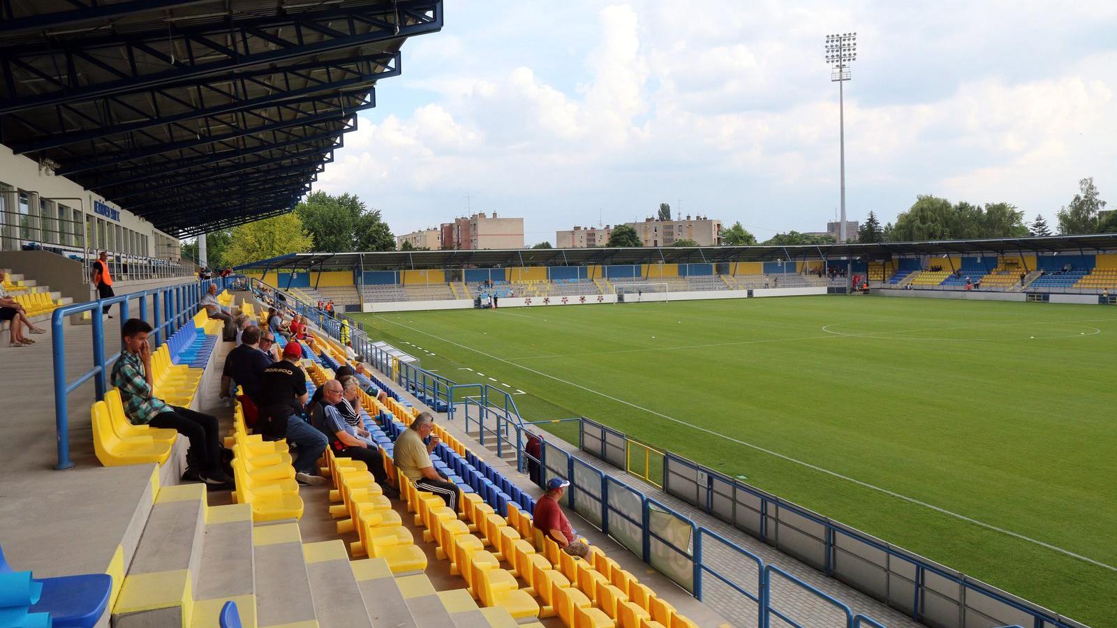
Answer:
<svg viewBox="0 0 1117 628"><path fill-rule="evenodd" d="M916 194L1049 219L1094 177L1117 204L1117 2L448 0L317 189L397 234L523 216L527 244L669 202L764 239L839 206L828 32L858 34L847 209ZM467 197L469 197L467 199Z"/></svg>

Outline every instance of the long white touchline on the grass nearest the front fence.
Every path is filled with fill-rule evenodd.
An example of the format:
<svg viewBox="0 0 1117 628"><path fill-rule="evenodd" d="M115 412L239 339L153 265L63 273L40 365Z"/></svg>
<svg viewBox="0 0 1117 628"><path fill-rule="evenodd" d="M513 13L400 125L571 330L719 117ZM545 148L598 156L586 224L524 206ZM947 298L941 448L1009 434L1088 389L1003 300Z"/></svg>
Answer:
<svg viewBox="0 0 1117 628"><path fill-rule="evenodd" d="M388 318L384 318L384 320L388 321ZM413 332L417 332L417 333L430 336L430 337L432 337L435 340L439 340L439 341L452 344L455 346L459 346L461 349L466 349L466 350L472 351L474 353L484 355L484 356L489 358L491 360L496 360L498 362L504 362L505 364L510 364L510 365L516 367L518 369L524 369L525 371L528 371L528 372L535 373L537 375L541 375L541 377L554 380L554 381L560 382L560 383L564 383L566 386L572 386L574 388L584 390L586 392L591 392L593 394L603 397L605 399L609 399L611 401L615 401L618 403L623 403L624 406L628 406L630 408L634 408L637 410L645 411L645 412L647 412L649 415L659 417L661 419L666 419L668 421L671 421L671 422L675 422L675 424L678 424L678 425L681 425L681 426L689 427L689 428L695 429L697 431L701 431L701 432L708 434L710 436L716 436L718 438L724 438L726 440L731 440L731 441L736 443L738 445L744 445L745 447L750 447L750 448L756 449L757 451L763 451L763 453L768 454L771 456L775 456L776 458L781 458L783 460L787 460L789 463L794 463L796 465L804 466L804 467L806 467L809 469L813 469L813 470L817 470L819 473L823 473L823 474L827 474L829 476L837 477L839 479L844 479L846 482L850 482L850 483L856 484L858 486L861 486L861 487L865 487L865 488L869 488L869 489L876 491L878 493L884 493L885 495L888 495L888 496L891 496L891 497L896 497L897 499L903 499L903 501L908 502L910 504L915 504L917 506L923 506L925 508L928 508L928 510L935 511L937 513L955 517L955 518L964 521L966 523L972 523L972 524L977 525L980 527L984 527L986 530L992 530L993 532L1000 532L1002 534L1006 534L1009 536L1012 536L1014 539L1019 539L1021 541L1027 541L1029 543L1034 543L1035 545L1039 545L1041 548L1047 548L1048 550L1052 550L1054 552L1059 552L1061 554L1065 554L1065 555L1078 559L1080 561L1088 562L1090 564L1100 567L1102 569L1108 569L1109 571L1117 571L1117 567L1114 567L1111 564L1107 564L1107 563L1104 563L1101 561L1094 560L1094 559L1091 559L1089 556L1083 556L1082 554L1078 554L1078 553L1071 552L1070 550L1065 550L1063 548L1060 548L1058 545L1052 545L1051 543L1046 543L1046 542L1040 541L1038 539L1032 539L1031 536L1024 536L1023 534L1020 534L1019 532L1013 532L1011 530L1005 530L1003 527L993 525L991 523L985 523L983 521L980 521L980 520L966 516L964 514L956 513L956 512L953 512L953 511L948 511L948 510L943 508L941 506L936 506L934 504L929 504L927 502L923 502L920 499L916 499L915 497L908 497L907 495L904 495L904 494L900 494L900 493L896 493L895 491L889 491L888 488L882 488L880 486L876 486L873 484L869 484L868 482L862 482L860 479L850 477L848 475L843 475L843 474L840 474L838 472L833 472L833 470L830 470L828 468L820 467L818 465L812 465L811 463L808 463L808 462L804 462L804 460L792 458L791 456L786 456L784 454L780 454L779 451L773 451L772 449L767 449L765 447L761 447L760 445L754 445L752 443L746 443L744 440L739 440L737 438L733 438L732 436L727 436L723 431L715 431L715 430L712 430L712 429L704 428L701 426L696 426L694 424L689 424L689 422L684 421L681 419L676 419L675 417L669 417L669 416L667 416L667 415L665 415L662 412L657 412L656 410L652 410L650 408L645 408L643 406L637 406L636 403L632 403L631 401L626 401L623 399L618 399L618 398L615 398L615 397L613 397L611 394L607 394L607 393L601 392L599 390L593 390L592 388L586 388L586 387L584 387L582 384L574 383L572 381L567 381L567 380L564 380L562 378L556 378L554 375L544 373L542 371L536 371L535 369L525 367L523 364L517 364L515 362L510 362L508 360L505 360L504 358L498 358L496 355L493 355L491 353L486 353L486 352L484 352L484 351L481 351L479 349L475 349L472 346L467 346L465 344L460 344L460 343L454 342L452 340L447 340L445 337L437 336L437 335L435 335L432 333L424 332L422 330L412 327L410 325L404 325L403 323L397 323L395 321L389 321L389 322L390 323L394 323L397 325L400 325L401 327L405 327L408 330L411 330ZM828 336L814 336L814 337L828 337ZM841 337L841 336L836 336L836 337Z"/></svg>

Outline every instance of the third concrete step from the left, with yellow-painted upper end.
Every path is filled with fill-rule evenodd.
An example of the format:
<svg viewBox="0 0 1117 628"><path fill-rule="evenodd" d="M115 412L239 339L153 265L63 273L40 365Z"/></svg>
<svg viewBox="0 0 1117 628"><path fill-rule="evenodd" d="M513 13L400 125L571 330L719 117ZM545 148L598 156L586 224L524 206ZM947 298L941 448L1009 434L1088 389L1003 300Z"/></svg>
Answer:
<svg viewBox="0 0 1117 628"><path fill-rule="evenodd" d="M298 523L252 527L256 553L257 626L314 621L314 596L303 558Z"/></svg>

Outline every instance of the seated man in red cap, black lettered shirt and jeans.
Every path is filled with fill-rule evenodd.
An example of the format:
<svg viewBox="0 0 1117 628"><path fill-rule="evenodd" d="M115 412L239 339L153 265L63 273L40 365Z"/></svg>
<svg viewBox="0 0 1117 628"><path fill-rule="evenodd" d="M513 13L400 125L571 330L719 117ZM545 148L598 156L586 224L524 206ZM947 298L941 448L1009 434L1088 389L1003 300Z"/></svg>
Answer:
<svg viewBox="0 0 1117 628"><path fill-rule="evenodd" d="M302 484L325 484L315 474L318 457L326 450L326 437L306 422L303 406L306 403L306 373L298 365L303 345L296 341L283 349L283 360L264 369L259 384L259 409L256 431L264 440L279 440L297 447L295 479Z"/></svg>

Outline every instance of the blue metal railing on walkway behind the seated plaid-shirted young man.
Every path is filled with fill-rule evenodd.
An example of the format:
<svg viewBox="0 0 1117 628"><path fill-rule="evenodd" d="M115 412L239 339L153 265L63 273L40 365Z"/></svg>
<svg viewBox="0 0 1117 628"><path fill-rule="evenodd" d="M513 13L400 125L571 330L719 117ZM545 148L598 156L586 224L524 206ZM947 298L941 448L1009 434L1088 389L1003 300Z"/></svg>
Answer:
<svg viewBox="0 0 1117 628"><path fill-rule="evenodd" d="M89 301L86 303L75 303L64 305L54 311L50 317L51 329L51 351L54 361L54 389L55 389L55 430L58 438L58 464L56 469L68 469L74 467L69 451L69 394L80 388L90 379L94 382L94 392L97 401L102 400L108 390L108 371L112 364L121 356L116 351L112 355L105 354L105 322L102 318L102 308L105 306L120 307L120 324L123 325L128 320L131 303L139 301L137 316L146 317L149 304L152 314L152 349L157 349L174 335L174 332L187 323L198 311L198 302L202 294L209 289L209 285L216 283L218 287L223 287L227 279L207 279L203 282L188 282L172 286L163 286L146 291L137 291L109 298ZM66 330L67 316L75 314L90 313L90 331L93 341L93 367L78 373L71 381L66 377Z"/></svg>

